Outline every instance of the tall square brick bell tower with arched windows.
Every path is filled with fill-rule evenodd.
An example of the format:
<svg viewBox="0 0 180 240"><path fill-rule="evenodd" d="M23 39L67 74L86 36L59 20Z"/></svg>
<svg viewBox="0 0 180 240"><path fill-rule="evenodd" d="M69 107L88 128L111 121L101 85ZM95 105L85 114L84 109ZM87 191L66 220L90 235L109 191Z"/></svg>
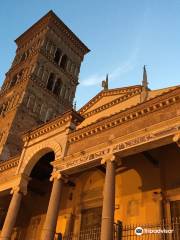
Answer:
<svg viewBox="0 0 180 240"><path fill-rule="evenodd" d="M16 55L0 90L0 160L21 152L22 132L72 108L89 52L52 11L15 42Z"/></svg>

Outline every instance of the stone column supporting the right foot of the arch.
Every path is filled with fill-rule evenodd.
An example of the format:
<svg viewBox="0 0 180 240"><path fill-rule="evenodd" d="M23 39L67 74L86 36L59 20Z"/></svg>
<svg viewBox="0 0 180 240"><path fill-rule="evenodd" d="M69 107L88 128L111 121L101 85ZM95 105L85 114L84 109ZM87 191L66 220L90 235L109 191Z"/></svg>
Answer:
<svg viewBox="0 0 180 240"><path fill-rule="evenodd" d="M54 172L50 179L53 182L52 192L49 200L46 219L42 229L41 240L53 240L56 232L56 224L59 213L60 197L63 180L59 172Z"/></svg>

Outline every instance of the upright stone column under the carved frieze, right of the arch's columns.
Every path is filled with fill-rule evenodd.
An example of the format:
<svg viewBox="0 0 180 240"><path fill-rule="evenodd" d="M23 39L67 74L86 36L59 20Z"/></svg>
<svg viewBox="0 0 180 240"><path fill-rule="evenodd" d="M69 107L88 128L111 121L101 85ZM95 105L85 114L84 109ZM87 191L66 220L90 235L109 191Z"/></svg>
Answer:
<svg viewBox="0 0 180 240"><path fill-rule="evenodd" d="M115 156L106 156L102 163L106 163L104 183L104 198L101 222L101 240L113 240L114 209L115 209Z"/></svg>

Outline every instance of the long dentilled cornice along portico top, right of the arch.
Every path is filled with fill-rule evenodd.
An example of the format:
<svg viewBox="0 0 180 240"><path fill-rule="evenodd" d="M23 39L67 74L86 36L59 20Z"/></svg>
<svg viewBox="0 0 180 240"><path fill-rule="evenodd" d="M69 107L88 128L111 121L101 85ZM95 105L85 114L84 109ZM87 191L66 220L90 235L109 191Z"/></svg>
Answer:
<svg viewBox="0 0 180 240"><path fill-rule="evenodd" d="M162 110L170 105L180 102L180 87L167 92L161 96L152 98L144 103L127 108L119 113L105 117L89 126L78 129L69 134L70 144L81 141L89 136L102 133L113 127L122 125L126 122L141 118L147 114Z"/></svg>

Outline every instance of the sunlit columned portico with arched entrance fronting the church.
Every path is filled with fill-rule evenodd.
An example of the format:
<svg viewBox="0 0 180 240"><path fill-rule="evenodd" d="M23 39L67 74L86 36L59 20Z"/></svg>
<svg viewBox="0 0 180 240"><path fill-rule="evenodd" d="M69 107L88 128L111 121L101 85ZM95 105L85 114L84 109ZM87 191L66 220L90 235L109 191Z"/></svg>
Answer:
<svg viewBox="0 0 180 240"><path fill-rule="evenodd" d="M148 215L148 221L154 218L153 215L159 221L161 218L170 217L170 196L173 189L177 189L179 185L178 179L167 174L167 169L172 167L169 165L171 154L174 156L173 165L178 166L179 100L178 88L162 95L161 100L154 98L148 105L142 103L87 127L83 126L83 117L79 113L69 111L25 134L21 156L11 160L11 164L2 166L2 172L8 174L8 169L11 169L14 176L21 177L19 182L10 178L9 184L6 182L6 185L3 185L2 182L0 185L2 190L16 189L13 190L0 239L10 239L24 193L22 186L26 186L26 191L29 189L27 186L31 186L31 189L36 186L36 194L43 194L43 191L48 193L44 210L37 210L42 217L38 220L39 223L37 221L39 233L36 232L34 239L53 240L55 233L59 231L62 234L70 231L77 236L80 231L90 226L89 223L85 224L86 227L82 226L81 218L86 219L83 214L90 216L94 214L91 209L97 208L102 209L102 214L99 223L92 226L100 226L101 239L112 240L115 221L126 221L127 214L132 221L136 215L139 220L146 219L145 210L140 204L143 198L148 199L149 209L152 209L152 217ZM48 158L47 167L44 165L47 161L45 156L47 158L50 156L47 154L51 152L54 157ZM97 177L90 177L91 174ZM26 184L23 183L25 176ZM32 180L36 176L46 179L47 189L43 190L44 184L37 185L38 181ZM126 178L125 182L123 178ZM133 197L128 198L125 194L123 197L122 191L131 189L127 187L127 190L123 190L131 178L136 184L133 187L136 194L131 193ZM90 189L90 195L82 195L81 189L86 192L83 190L82 181ZM41 198L32 195L27 201L30 203L33 199ZM138 209L141 209L141 212ZM31 236L31 231L26 230L24 239Z"/></svg>

